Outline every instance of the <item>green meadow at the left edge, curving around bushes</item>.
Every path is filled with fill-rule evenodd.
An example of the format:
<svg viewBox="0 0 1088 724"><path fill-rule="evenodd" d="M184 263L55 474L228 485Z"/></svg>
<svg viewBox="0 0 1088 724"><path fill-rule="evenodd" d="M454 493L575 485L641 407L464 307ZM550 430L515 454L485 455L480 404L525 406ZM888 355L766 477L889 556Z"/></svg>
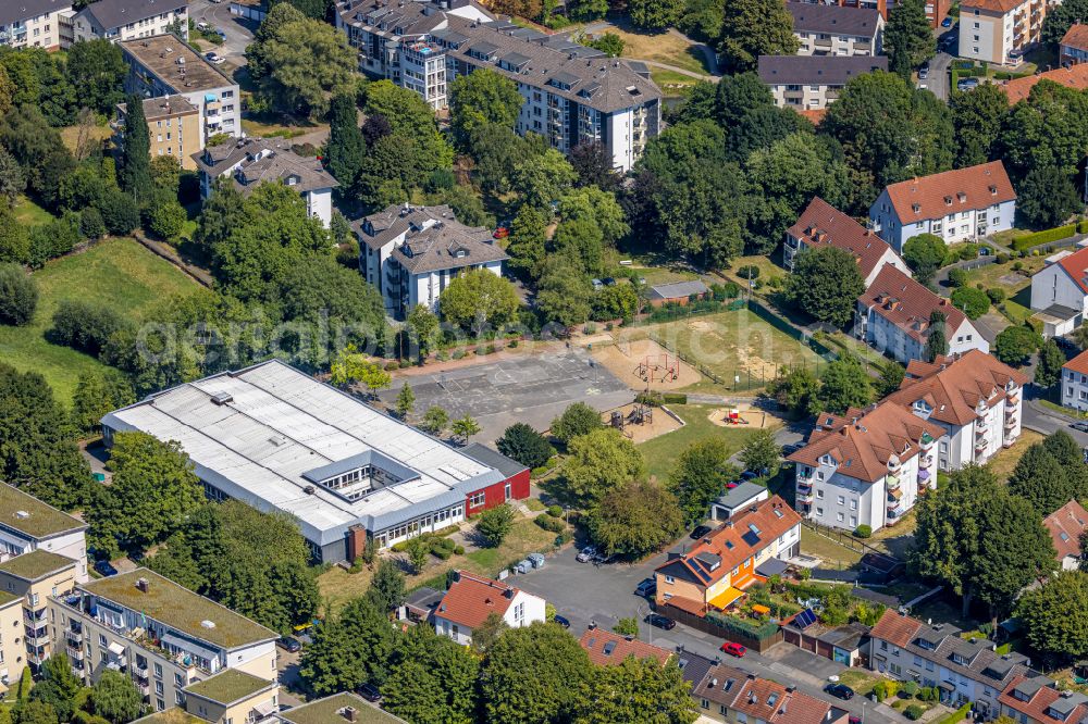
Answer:
<svg viewBox="0 0 1088 724"><path fill-rule="evenodd" d="M202 290L133 239L108 239L83 253L51 261L34 273L34 279L40 294L34 322L25 327L0 326L0 359L45 375L64 404L71 404L79 374L102 365L87 354L46 340L62 300L100 301L138 321L157 301Z"/></svg>

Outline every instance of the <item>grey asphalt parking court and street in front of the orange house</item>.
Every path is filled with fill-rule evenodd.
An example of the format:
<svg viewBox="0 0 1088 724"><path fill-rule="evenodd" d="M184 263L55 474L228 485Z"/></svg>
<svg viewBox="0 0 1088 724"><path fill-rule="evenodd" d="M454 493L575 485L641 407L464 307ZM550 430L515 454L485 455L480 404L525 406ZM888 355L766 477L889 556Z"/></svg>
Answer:
<svg viewBox="0 0 1088 724"><path fill-rule="evenodd" d="M689 546L682 538L677 547ZM556 607L559 615L570 621L570 633L580 637L590 622L611 628L619 619L635 616L639 620L639 638L664 649L683 647L708 659L720 657L721 639L709 634L677 624L672 631L653 628L642 622L650 612L650 602L634 595L640 581L652 575L653 570L666 560L666 553L636 563L594 566L574 560L576 548L561 551L547 559L543 569L515 576L509 583L531 594L541 596ZM852 714L864 715L866 722L886 724L905 720L882 704L876 706L862 697L850 701L831 699L823 692L828 676L841 673L844 667L830 659L802 651L788 644L780 644L765 654L749 652L742 660L733 661L758 676L771 678L832 702Z"/></svg>

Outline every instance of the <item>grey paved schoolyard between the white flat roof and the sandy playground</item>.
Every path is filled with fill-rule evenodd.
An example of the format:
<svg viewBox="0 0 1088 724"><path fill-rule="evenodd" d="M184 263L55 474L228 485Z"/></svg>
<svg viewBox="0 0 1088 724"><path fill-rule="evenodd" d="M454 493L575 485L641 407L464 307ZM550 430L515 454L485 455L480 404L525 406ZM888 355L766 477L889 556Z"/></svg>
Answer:
<svg viewBox="0 0 1088 724"><path fill-rule="evenodd" d="M586 402L597 410L610 410L634 399L627 385L594 362L583 349L554 354L510 357L428 375L395 379L379 396L396 403L407 382L416 394L416 412L437 405L452 420L466 414L475 417L481 432L473 438L492 444L517 422L547 429L552 421L572 402Z"/></svg>

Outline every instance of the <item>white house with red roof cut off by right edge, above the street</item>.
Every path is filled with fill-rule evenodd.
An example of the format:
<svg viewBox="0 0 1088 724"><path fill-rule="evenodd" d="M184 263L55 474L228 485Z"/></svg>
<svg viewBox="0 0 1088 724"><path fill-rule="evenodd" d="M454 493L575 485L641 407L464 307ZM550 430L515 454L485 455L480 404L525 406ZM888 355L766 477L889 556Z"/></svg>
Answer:
<svg viewBox="0 0 1088 724"><path fill-rule="evenodd" d="M1042 322L1047 339L1067 335L1084 324L1088 312L1088 247L1047 258L1031 277L1031 310Z"/></svg>

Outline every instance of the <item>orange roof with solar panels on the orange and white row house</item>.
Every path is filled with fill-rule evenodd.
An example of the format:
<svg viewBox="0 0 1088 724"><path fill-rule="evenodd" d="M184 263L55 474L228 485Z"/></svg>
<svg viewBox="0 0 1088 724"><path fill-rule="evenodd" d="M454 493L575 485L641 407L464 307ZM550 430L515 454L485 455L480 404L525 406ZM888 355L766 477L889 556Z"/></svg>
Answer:
<svg viewBox="0 0 1088 724"><path fill-rule="evenodd" d="M707 588L800 523L795 510L771 496L735 513L690 551L670 553L656 571Z"/></svg>

